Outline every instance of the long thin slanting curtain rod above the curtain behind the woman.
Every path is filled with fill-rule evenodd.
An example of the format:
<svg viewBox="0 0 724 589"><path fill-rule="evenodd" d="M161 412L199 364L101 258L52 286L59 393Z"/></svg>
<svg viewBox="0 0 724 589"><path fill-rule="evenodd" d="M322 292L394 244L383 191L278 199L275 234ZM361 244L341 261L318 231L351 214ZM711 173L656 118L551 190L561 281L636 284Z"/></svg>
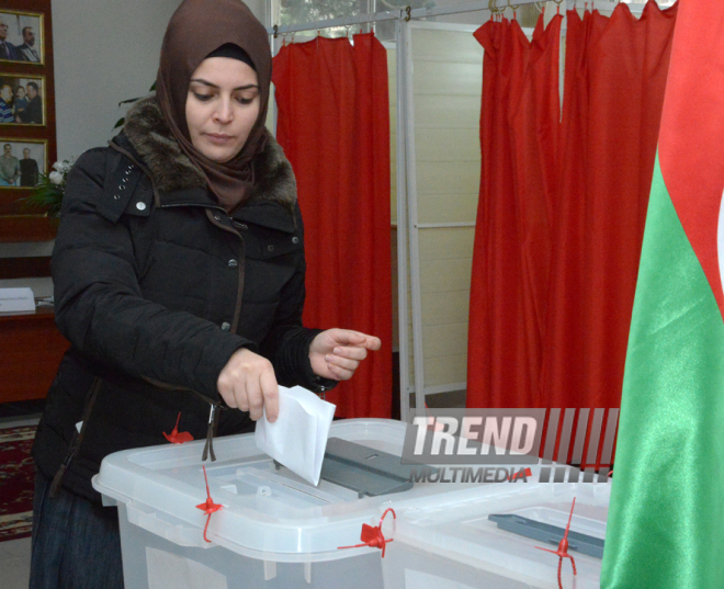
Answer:
<svg viewBox="0 0 724 589"><path fill-rule="evenodd" d="M516 0L516 5L521 4L533 4L539 0ZM565 0L562 0L565 1ZM578 0L582 2L584 0ZM507 3L502 3L498 7L500 9L507 9ZM331 26L354 26L358 24L369 24L373 22L381 21L396 21L398 19L425 19L427 16L444 16L446 14L460 14L462 12L476 12L480 10L490 10L490 3L488 2L470 2L465 4L460 4L456 7L439 7L439 8L416 8L409 9L409 7L403 8L399 11L386 11L377 12L374 14L361 14L359 16L342 16L341 19L327 19L325 21L315 21L307 22L302 24L285 24L282 26L275 25L267 27L267 32L270 35L273 34L285 34L285 33L299 33L302 31L318 31L320 29L329 29Z"/></svg>

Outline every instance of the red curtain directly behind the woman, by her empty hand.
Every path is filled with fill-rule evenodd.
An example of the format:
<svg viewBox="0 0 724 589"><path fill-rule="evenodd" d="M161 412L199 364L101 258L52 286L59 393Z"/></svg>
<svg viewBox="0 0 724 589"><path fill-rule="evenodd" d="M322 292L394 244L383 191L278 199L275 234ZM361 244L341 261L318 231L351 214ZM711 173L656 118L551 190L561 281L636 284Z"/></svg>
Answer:
<svg viewBox="0 0 724 589"><path fill-rule="evenodd" d="M305 224L307 326L377 336L338 417L389 417L392 270L387 56L373 34L285 45L274 58L276 137Z"/></svg>

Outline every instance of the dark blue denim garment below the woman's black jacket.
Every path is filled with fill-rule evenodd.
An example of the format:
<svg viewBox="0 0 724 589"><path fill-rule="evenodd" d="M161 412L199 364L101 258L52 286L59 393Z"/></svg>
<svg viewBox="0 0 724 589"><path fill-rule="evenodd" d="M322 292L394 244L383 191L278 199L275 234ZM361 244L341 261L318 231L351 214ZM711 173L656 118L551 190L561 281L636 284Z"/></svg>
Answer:
<svg viewBox="0 0 724 589"><path fill-rule="evenodd" d="M123 589L118 514L65 489L50 498L39 471L33 500L30 589Z"/></svg>

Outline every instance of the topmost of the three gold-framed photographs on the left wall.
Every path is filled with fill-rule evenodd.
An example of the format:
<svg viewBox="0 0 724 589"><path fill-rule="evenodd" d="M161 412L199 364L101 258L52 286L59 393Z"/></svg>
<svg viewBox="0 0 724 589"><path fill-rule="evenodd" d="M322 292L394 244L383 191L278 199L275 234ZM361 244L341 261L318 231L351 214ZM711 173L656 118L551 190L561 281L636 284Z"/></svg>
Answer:
<svg viewBox="0 0 724 589"><path fill-rule="evenodd" d="M43 14L0 10L0 61L45 64Z"/></svg>

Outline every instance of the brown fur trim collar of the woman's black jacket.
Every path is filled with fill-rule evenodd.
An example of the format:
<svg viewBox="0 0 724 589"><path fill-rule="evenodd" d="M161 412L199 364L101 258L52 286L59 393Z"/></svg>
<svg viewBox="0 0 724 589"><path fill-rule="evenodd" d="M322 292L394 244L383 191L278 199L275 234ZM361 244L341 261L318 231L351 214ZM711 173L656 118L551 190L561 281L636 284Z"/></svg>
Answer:
<svg viewBox="0 0 724 589"><path fill-rule="evenodd" d="M206 178L181 150L171 135L156 97L136 102L126 115L123 127L126 137L151 172L160 192L204 188ZM267 147L252 160L254 185L247 203L272 201L293 208L296 203L296 181L284 150L269 137Z"/></svg>

